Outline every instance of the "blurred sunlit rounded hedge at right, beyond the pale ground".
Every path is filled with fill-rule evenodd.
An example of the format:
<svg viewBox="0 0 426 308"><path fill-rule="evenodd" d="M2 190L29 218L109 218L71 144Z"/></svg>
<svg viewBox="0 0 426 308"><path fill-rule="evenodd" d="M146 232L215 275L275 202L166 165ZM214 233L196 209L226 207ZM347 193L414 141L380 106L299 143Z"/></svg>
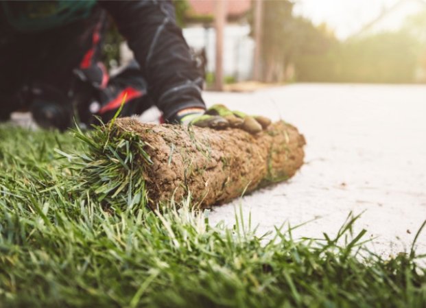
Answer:
<svg viewBox="0 0 426 308"><path fill-rule="evenodd" d="M296 60L298 80L309 82L414 82L416 67L416 41L403 31L352 38Z"/></svg>

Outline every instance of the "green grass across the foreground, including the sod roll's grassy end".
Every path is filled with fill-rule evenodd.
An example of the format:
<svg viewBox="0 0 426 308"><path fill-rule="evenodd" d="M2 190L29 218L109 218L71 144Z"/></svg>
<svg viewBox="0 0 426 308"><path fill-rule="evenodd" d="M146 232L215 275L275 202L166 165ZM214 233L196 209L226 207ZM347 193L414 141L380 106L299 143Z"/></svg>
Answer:
<svg viewBox="0 0 426 308"><path fill-rule="evenodd" d="M0 126L0 307L426 307L425 256L381 259L357 217L293 239L147 209L144 143L108 128Z"/></svg>

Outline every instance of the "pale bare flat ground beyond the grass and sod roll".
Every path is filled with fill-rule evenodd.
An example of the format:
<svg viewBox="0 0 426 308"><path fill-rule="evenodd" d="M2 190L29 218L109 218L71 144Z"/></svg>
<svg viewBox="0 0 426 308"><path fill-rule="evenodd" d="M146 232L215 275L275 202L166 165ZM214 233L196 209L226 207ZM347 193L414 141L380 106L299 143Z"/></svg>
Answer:
<svg viewBox="0 0 426 308"><path fill-rule="evenodd" d="M377 237L373 249L410 249L426 220L426 86L295 84L204 97L207 104L282 117L307 139L306 164L292 180L217 207L213 223L233 224L235 204L242 204L259 233L318 218L294 234L320 237L335 234L350 211L365 211L357 228Z"/></svg>

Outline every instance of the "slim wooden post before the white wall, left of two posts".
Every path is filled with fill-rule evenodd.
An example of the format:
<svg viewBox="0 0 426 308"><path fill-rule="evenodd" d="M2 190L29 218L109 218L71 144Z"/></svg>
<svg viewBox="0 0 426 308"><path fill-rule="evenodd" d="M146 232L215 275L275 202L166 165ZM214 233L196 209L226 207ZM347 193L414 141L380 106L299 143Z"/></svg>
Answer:
<svg viewBox="0 0 426 308"><path fill-rule="evenodd" d="M226 0L215 1L215 31L216 31L216 61L215 61L215 90L224 88L224 28L226 23Z"/></svg>

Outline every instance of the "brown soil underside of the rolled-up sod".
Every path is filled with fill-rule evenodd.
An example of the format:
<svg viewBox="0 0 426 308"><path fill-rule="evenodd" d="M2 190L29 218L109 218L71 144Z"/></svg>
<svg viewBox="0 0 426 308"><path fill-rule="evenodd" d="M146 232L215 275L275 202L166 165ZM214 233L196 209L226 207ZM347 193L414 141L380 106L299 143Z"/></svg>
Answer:
<svg viewBox="0 0 426 308"><path fill-rule="evenodd" d="M191 193L200 208L223 204L294 176L303 165L305 138L284 121L259 134L239 129L152 125L137 119L115 121L117 132L132 132L146 144L152 163L143 161L151 205Z"/></svg>

